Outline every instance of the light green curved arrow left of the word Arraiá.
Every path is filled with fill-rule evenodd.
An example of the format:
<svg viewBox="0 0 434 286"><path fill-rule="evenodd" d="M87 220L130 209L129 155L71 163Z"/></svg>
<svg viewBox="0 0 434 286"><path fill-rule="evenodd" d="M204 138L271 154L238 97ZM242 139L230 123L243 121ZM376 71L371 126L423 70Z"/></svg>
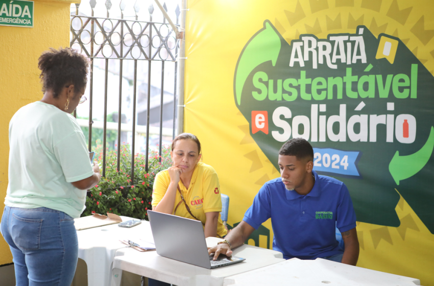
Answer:
<svg viewBox="0 0 434 286"><path fill-rule="evenodd" d="M269 20L264 21L264 28L259 30L246 44L235 68L235 96L241 104L241 92L252 70L263 62L271 61L276 65L280 52L280 38Z"/></svg>

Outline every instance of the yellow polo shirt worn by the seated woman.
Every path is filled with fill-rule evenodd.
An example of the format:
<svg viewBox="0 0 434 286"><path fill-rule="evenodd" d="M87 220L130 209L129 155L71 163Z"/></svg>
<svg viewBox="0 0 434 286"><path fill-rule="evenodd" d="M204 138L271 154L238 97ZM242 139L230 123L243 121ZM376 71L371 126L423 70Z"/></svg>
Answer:
<svg viewBox="0 0 434 286"><path fill-rule="evenodd" d="M171 179L167 170L161 171L157 174L157 176L155 176L154 188L152 190L153 207L157 206L164 197L170 181ZM222 211L219 177L210 165L202 162L196 164L188 189L182 184L181 181L179 181L178 185L181 189L182 195L184 196L185 202L190 208L191 213L194 214L194 216L203 224L206 222L206 212ZM180 201L181 195L177 190L174 210ZM174 214L187 219L195 219L188 213L184 203L179 205L176 213ZM220 236L227 234L226 228L222 222L222 218L220 217L220 213L219 221L217 223L217 234Z"/></svg>

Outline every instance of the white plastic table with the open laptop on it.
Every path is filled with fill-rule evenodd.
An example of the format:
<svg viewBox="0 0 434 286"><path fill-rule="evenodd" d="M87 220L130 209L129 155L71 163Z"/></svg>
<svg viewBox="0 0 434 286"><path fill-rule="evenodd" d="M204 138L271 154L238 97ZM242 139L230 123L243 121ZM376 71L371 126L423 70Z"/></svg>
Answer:
<svg viewBox="0 0 434 286"><path fill-rule="evenodd" d="M207 245L221 241L208 237ZM119 286L122 271L172 283L177 286L222 286L227 276L251 271L284 261L282 253L274 250L242 245L233 250L234 256L246 258L245 261L216 269L206 269L162 257L156 251L138 252L131 248L119 249L113 261L112 285Z"/></svg>

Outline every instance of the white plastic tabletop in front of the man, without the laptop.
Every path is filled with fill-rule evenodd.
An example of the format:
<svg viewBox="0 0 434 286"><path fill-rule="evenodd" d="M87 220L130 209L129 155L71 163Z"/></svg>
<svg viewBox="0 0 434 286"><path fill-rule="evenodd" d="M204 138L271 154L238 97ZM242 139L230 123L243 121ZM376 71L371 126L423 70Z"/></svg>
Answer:
<svg viewBox="0 0 434 286"><path fill-rule="evenodd" d="M414 286L420 280L317 258L293 258L268 267L226 277L224 286Z"/></svg>

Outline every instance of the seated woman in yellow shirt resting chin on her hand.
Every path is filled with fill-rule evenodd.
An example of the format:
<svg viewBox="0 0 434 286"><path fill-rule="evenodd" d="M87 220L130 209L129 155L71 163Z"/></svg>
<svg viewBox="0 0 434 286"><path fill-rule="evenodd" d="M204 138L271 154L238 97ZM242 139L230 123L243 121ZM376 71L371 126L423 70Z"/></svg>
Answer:
<svg viewBox="0 0 434 286"><path fill-rule="evenodd" d="M219 178L210 165L199 162L201 156L201 144L195 135L182 133L173 140L173 166L155 177L152 208L201 221L205 237L223 237L227 230L220 217Z"/></svg>

